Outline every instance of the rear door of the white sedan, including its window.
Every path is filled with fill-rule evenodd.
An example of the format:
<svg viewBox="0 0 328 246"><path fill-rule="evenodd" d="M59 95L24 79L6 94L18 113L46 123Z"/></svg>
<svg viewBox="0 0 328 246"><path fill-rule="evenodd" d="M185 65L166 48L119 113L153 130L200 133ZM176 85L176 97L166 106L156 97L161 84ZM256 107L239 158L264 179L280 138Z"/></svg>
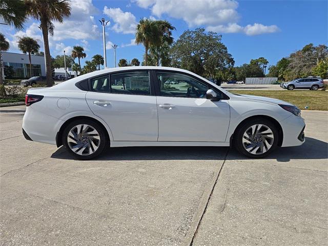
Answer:
<svg viewBox="0 0 328 246"><path fill-rule="evenodd" d="M148 70L91 78L86 94L92 112L105 120L114 141L157 141L156 96Z"/></svg>

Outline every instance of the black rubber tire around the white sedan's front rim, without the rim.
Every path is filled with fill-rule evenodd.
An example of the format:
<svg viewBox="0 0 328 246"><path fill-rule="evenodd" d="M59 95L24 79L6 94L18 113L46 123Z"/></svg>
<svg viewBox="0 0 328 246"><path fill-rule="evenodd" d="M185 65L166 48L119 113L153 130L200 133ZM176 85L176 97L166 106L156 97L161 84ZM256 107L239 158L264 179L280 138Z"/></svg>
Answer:
<svg viewBox="0 0 328 246"><path fill-rule="evenodd" d="M266 127L268 127L272 133L273 133L273 140L271 142L272 146L269 148L269 150L267 150L264 153L261 154L252 154L250 152L248 152L244 145L243 145L243 134L245 133L245 131L247 131L250 127L257 125L257 124L261 124L264 125ZM260 130L260 129L259 129ZM274 151L277 146L278 146L278 141L279 141L279 130L276 127L275 124L273 124L272 121L268 120L268 119L264 119L264 118L254 118L249 120L248 122L246 122L245 124L242 124L241 126L238 127L238 129L236 129L236 132L234 134L234 146L235 148L238 150L239 153L251 157L251 158L262 158L265 156L268 156L272 151Z"/></svg>

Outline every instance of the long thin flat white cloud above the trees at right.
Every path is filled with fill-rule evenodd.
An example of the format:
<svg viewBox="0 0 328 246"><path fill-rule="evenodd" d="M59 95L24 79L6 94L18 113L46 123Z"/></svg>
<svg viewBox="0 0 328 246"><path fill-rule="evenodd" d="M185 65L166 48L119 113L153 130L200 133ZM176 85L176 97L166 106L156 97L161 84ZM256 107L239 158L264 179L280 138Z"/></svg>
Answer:
<svg viewBox="0 0 328 246"><path fill-rule="evenodd" d="M219 26L209 26L208 31L223 32L223 33L245 33L246 35L253 36L264 33L278 32L280 29L276 25L264 26L262 24L255 23L254 25L247 25L241 27L236 23Z"/></svg>

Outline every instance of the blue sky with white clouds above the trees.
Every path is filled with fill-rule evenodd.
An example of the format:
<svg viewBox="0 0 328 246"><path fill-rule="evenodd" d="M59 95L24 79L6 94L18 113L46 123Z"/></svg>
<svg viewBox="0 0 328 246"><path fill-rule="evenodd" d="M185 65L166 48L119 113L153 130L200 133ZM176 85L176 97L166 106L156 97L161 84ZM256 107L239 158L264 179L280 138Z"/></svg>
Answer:
<svg viewBox="0 0 328 246"><path fill-rule="evenodd" d="M70 54L73 46L85 48L91 60L104 54L103 33L99 19L106 26L107 66L114 67L112 45L118 45L116 60L138 58L141 62L144 46L136 45L137 22L144 17L166 19L176 30L174 39L183 31L203 27L222 35L222 42L235 59L235 66L251 59L265 57L269 66L282 57L309 43L328 45L328 1L235 1L235 0L71 0L71 16L64 23L54 23L54 35L49 36L53 57ZM43 51L39 22L30 18L23 31L0 25L0 32L9 40L9 52L17 48L20 37L37 40ZM77 62L77 59L76 59Z"/></svg>

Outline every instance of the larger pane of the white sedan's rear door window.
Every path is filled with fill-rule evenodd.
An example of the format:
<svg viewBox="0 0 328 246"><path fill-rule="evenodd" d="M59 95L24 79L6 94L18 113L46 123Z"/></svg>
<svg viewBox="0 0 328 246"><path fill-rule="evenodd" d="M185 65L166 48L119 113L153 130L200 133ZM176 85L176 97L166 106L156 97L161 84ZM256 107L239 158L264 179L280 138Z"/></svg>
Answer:
<svg viewBox="0 0 328 246"><path fill-rule="evenodd" d="M148 71L111 74L110 81L112 93L150 95Z"/></svg>

